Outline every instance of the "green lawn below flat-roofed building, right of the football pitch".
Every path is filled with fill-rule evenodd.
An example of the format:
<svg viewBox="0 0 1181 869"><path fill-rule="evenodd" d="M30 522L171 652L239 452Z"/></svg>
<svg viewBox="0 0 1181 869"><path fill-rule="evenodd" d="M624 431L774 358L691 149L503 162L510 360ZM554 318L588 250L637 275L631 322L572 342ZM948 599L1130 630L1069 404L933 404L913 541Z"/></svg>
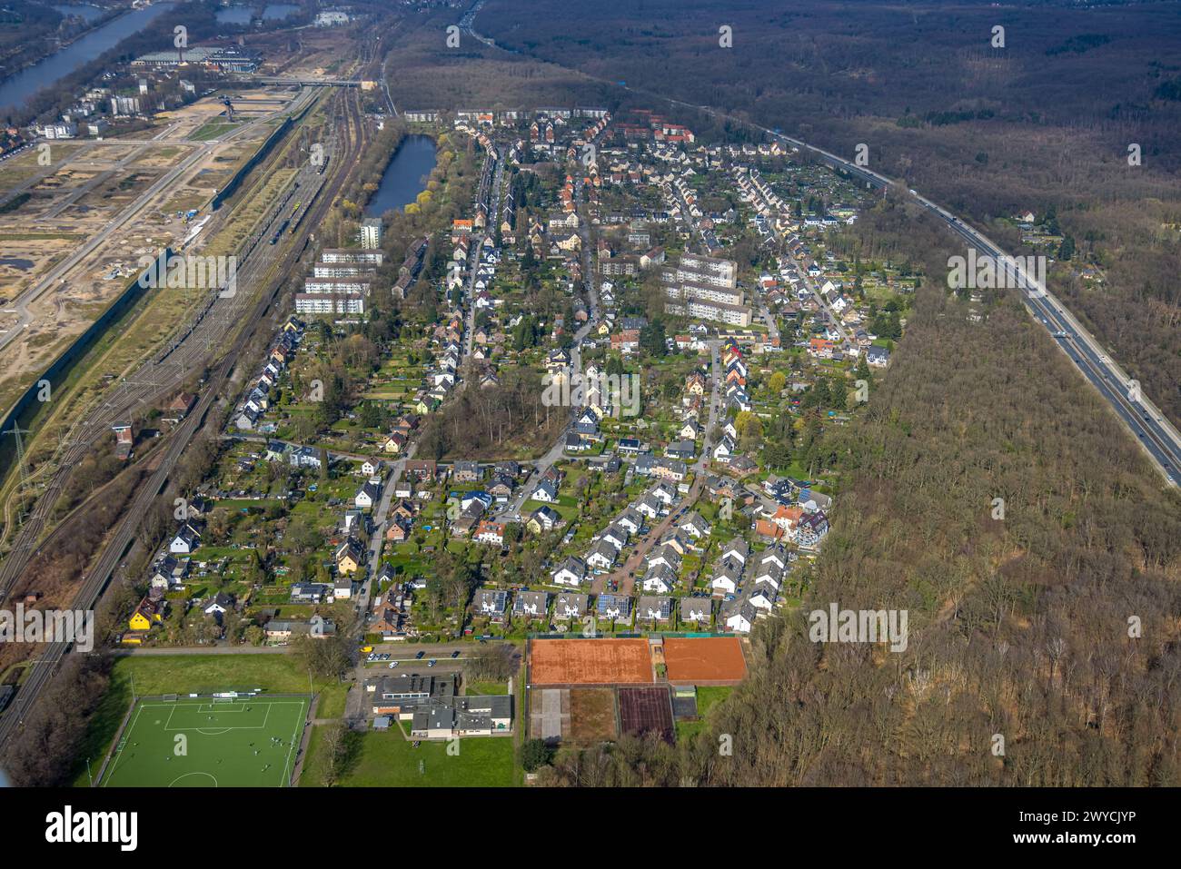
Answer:
<svg viewBox="0 0 1181 869"><path fill-rule="evenodd" d="M300 786L321 784L320 731L317 727L312 733ZM340 777L342 788L513 788L521 783L510 737L466 737L456 743L422 740L417 749L392 728L351 738L355 743ZM458 754L449 754L449 745L458 746Z"/></svg>

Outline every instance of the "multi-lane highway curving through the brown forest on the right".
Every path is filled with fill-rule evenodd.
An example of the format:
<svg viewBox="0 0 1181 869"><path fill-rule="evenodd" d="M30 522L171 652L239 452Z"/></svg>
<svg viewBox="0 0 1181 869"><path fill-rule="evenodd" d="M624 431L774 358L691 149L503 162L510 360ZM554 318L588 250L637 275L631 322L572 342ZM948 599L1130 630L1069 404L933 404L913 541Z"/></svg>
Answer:
<svg viewBox="0 0 1181 869"><path fill-rule="evenodd" d="M476 39L488 46L501 48L513 54L520 52L513 48L498 46L492 39L479 35L475 32L475 18L483 6L483 0L478 0L464 15L463 27ZM547 61L554 63L554 61ZM729 115L707 105L686 103L673 99L661 93L655 93L641 87L631 87L615 80L589 76L581 70L563 67L576 72L588 80L599 81L613 87L621 87L625 91L641 94L646 98L659 100L668 105L680 106L702 112L713 118L739 124L751 130L757 130L770 138L787 143L801 150L808 151L821 159L831 169L847 172L855 178L863 181L868 187L886 189L895 187L905 189L901 184L885 175L879 175L869 169L857 166L842 157L837 157L822 148L809 145L807 142L784 136L765 126L759 126L743 118ZM994 257L1005 257L1011 273L1016 272L1016 281L1024 293L1026 306L1035 319L1045 326L1051 337L1075 364L1079 373L1088 379L1115 411L1116 416L1123 420L1131 433L1136 437L1144 453L1156 465L1164 476L1169 485L1177 485L1177 469L1181 468L1181 432L1170 423L1155 404L1138 388L1133 390L1127 373L1110 358L1102 345L1083 327L1083 325L1059 302L1039 281L1024 273L1020 263L1013 263L1007 259L1007 254L990 241L983 233L964 223L963 220L935 204L931 200L921 196L915 190L907 190L911 200L926 209L935 218L942 221L948 229L955 233L970 246L974 246L977 251ZM1062 334L1059 334L1062 333Z"/></svg>

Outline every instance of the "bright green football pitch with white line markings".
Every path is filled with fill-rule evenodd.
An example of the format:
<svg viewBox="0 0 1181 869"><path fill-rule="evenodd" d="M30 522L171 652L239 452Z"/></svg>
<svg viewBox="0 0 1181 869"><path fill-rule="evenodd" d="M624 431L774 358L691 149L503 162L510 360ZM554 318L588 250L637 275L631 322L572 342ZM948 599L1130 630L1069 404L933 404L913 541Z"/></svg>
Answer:
<svg viewBox="0 0 1181 869"><path fill-rule="evenodd" d="M307 717L306 697L141 700L104 788L283 788Z"/></svg>

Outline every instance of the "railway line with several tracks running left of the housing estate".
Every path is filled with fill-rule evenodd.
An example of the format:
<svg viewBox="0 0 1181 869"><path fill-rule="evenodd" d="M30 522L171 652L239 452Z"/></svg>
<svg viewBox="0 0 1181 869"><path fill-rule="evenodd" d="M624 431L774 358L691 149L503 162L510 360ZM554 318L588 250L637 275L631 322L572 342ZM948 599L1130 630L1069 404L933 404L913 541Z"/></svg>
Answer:
<svg viewBox="0 0 1181 869"><path fill-rule="evenodd" d="M355 93L352 89L341 89L334 97L339 106L335 119L342 122L335 125L335 129L340 131L335 149L338 153L334 155L335 159L333 159L335 171L325 176L319 195L308 202L306 209L308 220L304 222L308 228L314 228L324 220L364 146L365 128ZM268 224L261 231L267 233L269 229ZM72 602L74 609L94 608L124 554L135 543L135 535L142 517L152 501L165 491L176 462L203 424L223 387L229 383L234 370L241 361L239 353L249 344L260 325L265 322L267 313L270 312L276 301L285 275L302 257L308 241L305 233L302 241L296 239L282 246L255 244L254 249L260 253L250 257L249 263L247 263L248 272L242 269L239 273L240 283L256 281L266 286L265 292L260 293L257 300L253 302L253 307L248 293L239 292L230 296L217 294L209 309L210 313L202 318L204 326L191 329L180 346L168 354L169 358L159 362L154 360L145 366L145 368L155 366L154 373L162 375L170 373L172 378L168 383L164 383L163 378L123 381L117 394L96 410L87 426L79 432L78 439L71 445L67 458L77 460L92 449L92 444L98 437L109 430L111 420L125 414L139 403L158 400L169 394L170 391L175 391L180 385L180 379L176 375L183 367L182 362L187 361L189 371L193 371L196 365L204 364L205 360L216 357L216 360L210 362L213 372L201 393L197 406L172 432L159 466L148 483L136 492L131 507L111 534L98 560L91 566L89 574L83 577L83 583ZM227 303L218 306L218 301ZM211 313L215 308L216 313ZM234 327L239 325L241 328L235 334ZM235 334L235 338L227 346L226 337L230 334ZM218 355L215 348L223 348L224 352ZM46 505L52 505L64 490L71 476L71 468L72 463L63 464L38 501L37 508L30 517L31 521L22 529L18 545L9 553L8 558L0 568L0 590L7 593L12 589L28 564L30 557L37 550L35 541L45 525L50 509ZM35 521L33 521L34 518ZM66 641L50 643L44 648L41 656L30 665L26 679L13 703L0 714L0 746L4 746L20 727L28 710L53 677L70 647L71 643Z"/></svg>

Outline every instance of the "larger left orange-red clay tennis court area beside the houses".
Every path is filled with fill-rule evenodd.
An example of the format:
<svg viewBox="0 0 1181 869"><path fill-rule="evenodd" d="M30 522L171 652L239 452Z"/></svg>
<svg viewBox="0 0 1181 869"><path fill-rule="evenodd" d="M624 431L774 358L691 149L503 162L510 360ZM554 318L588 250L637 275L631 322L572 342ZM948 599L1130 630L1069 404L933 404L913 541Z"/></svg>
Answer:
<svg viewBox="0 0 1181 869"><path fill-rule="evenodd" d="M613 685L651 682L648 641L534 640L529 643L531 685Z"/></svg>

